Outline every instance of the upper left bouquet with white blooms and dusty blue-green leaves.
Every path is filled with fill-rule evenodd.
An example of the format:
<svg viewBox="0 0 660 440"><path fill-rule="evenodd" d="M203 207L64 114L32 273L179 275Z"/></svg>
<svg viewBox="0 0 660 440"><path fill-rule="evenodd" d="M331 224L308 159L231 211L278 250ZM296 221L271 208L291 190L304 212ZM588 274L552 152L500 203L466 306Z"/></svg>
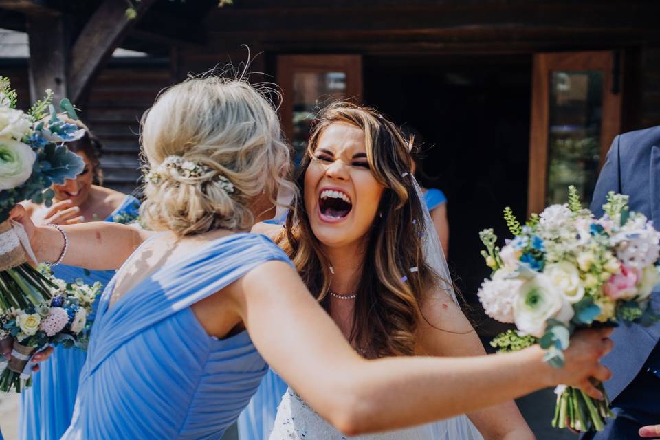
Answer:
<svg viewBox="0 0 660 440"><path fill-rule="evenodd" d="M83 170L83 160L64 144L85 131L61 119L52 98L47 90L24 113L16 109L17 94L9 80L0 77L0 311L39 305L56 287L28 263L28 258L36 259L23 227L8 221L9 212L23 200L50 206L54 192L48 188ZM60 109L76 119L69 100L63 99Z"/></svg>

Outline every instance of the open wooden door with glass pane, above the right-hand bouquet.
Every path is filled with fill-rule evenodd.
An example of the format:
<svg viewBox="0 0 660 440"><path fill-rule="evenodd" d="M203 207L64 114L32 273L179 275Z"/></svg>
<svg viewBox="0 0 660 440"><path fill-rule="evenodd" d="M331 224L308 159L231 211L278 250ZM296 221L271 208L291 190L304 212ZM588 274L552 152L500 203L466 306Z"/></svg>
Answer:
<svg viewBox="0 0 660 440"><path fill-rule="evenodd" d="M591 201L621 131L620 72L611 51L534 55L528 213L565 203L569 185Z"/></svg>

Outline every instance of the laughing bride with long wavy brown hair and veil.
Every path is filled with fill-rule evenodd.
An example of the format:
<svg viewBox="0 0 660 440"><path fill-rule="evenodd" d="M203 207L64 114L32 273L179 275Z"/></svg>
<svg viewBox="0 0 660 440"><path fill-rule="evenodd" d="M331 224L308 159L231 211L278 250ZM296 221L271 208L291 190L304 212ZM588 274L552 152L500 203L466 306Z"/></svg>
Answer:
<svg viewBox="0 0 660 440"><path fill-rule="evenodd" d="M394 124L373 109L332 104L311 133L297 182L303 199L286 230L265 223L256 230L281 245L310 292L366 358L483 355L454 302L437 236L426 234L434 232L432 219L411 168L410 142ZM513 401L469 417L486 439L534 438ZM294 391L284 394L271 440L342 438ZM481 435L462 416L369 438Z"/></svg>

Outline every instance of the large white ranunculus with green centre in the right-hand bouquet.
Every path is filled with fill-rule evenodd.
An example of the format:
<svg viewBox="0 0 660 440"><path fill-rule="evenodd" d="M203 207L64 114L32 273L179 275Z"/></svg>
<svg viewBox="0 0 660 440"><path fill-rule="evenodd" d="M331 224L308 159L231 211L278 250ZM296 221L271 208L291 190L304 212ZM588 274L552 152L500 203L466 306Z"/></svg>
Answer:
<svg viewBox="0 0 660 440"><path fill-rule="evenodd" d="M547 320L553 318L568 324L574 313L562 291L544 274L520 286L518 298L514 302L516 327L537 338L545 333Z"/></svg>

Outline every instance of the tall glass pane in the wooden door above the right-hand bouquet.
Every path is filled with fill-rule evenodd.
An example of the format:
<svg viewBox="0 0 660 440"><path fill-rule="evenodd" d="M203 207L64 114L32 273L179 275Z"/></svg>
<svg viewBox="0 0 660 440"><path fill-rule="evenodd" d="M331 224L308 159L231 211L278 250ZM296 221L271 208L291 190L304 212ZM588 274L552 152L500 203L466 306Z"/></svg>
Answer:
<svg viewBox="0 0 660 440"><path fill-rule="evenodd" d="M598 177L603 72L552 72L547 203L566 203L575 185L588 203Z"/></svg>

